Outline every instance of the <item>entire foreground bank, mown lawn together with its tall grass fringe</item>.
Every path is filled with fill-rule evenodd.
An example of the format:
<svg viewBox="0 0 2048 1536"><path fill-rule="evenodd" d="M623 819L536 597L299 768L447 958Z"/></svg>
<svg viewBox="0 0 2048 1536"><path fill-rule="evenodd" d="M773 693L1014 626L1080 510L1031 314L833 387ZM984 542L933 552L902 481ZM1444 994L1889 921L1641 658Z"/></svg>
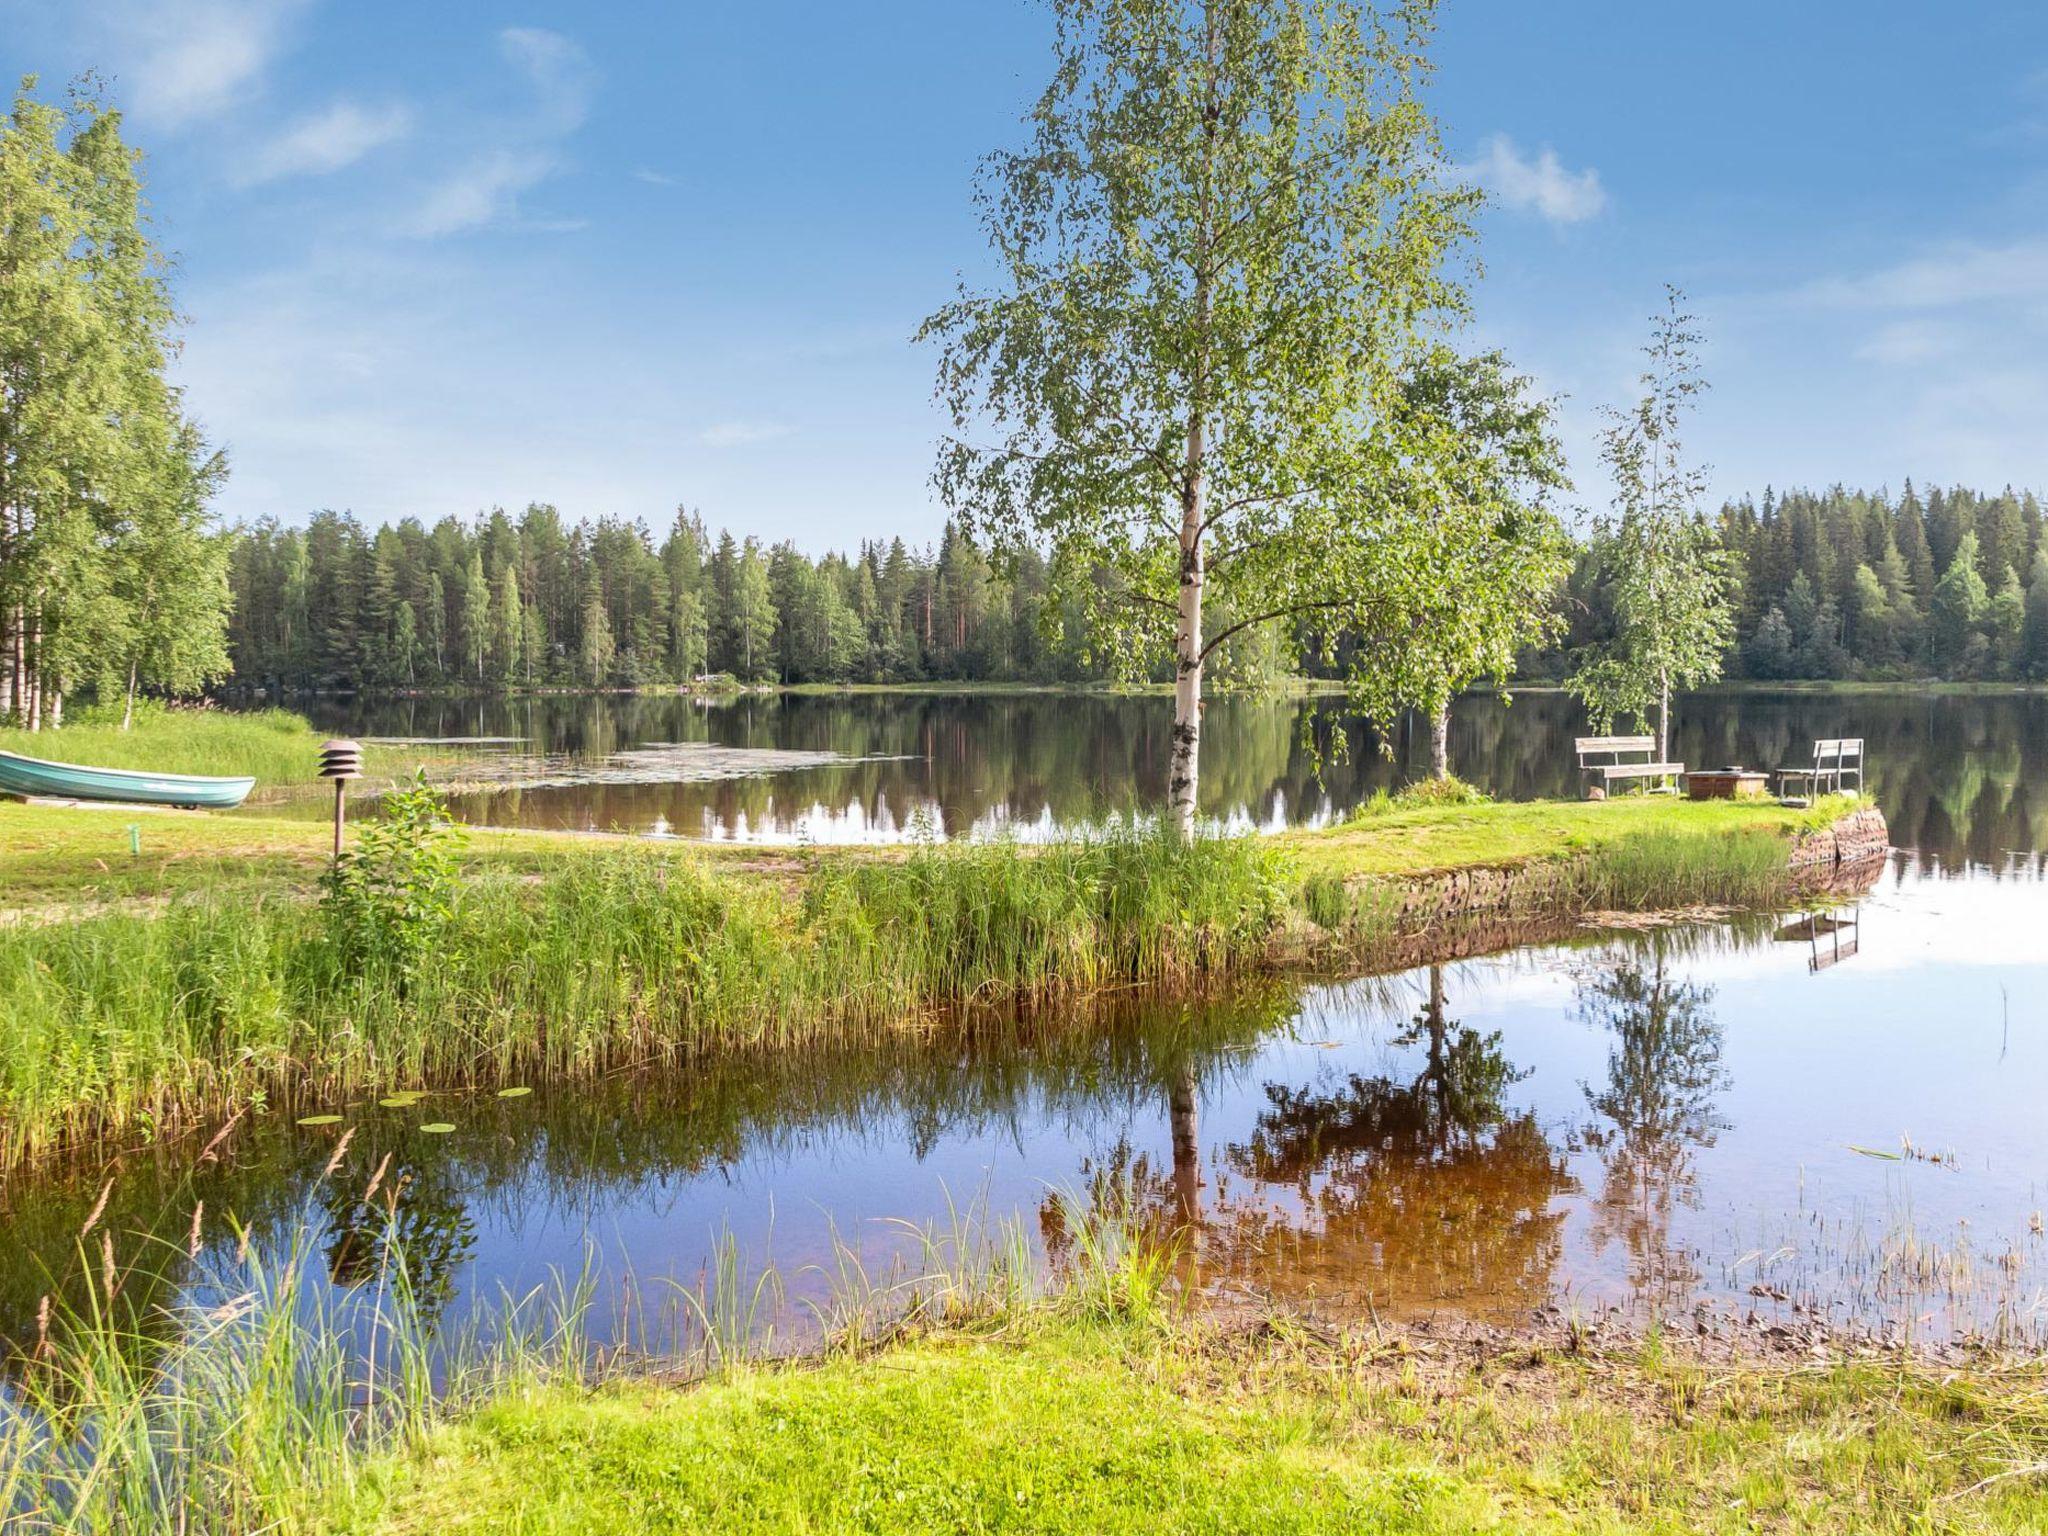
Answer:
<svg viewBox="0 0 2048 1536"><path fill-rule="evenodd" d="M1229 1325L1171 1303L1126 1214L1065 1221L1044 1290L1016 1231L936 1233L891 1294L842 1264L801 1360L764 1362L772 1288L721 1264L655 1374L592 1350L588 1280L436 1343L389 1243L336 1303L301 1235L229 1266L225 1309L133 1317L102 1290L25 1341L0 1509L193 1536L2042 1530L2040 1362Z"/></svg>

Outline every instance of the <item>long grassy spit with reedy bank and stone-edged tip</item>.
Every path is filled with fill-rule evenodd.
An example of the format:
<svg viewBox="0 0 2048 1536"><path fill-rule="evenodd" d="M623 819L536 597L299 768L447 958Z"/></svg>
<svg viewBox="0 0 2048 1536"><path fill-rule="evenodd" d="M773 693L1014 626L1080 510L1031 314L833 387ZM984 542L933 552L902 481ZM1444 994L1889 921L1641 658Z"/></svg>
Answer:
<svg viewBox="0 0 2048 1536"><path fill-rule="evenodd" d="M1882 817L1823 801L1407 807L1182 846L776 850L479 838L432 963L340 969L328 829L0 807L0 1167L252 1104L573 1079L1270 973L1456 958L1587 913L1784 909L1874 881ZM1845 856L1847 854L1847 856Z"/></svg>

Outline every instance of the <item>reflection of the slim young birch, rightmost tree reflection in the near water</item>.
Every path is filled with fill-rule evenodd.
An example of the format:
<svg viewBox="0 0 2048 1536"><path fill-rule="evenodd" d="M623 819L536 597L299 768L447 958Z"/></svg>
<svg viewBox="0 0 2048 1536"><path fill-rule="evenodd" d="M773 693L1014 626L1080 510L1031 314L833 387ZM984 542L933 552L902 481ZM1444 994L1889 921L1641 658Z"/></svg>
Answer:
<svg viewBox="0 0 2048 1536"><path fill-rule="evenodd" d="M1585 1143L1606 1165L1595 1241L1622 1243L1632 1288L1663 1300L1700 1278L1673 1245L1671 1221L1677 1206L1698 1204L1696 1153L1726 1128L1716 1100L1729 1087L1714 989L1673 977L1671 958L1669 936L1653 934L1640 950L1587 965L1577 983L1579 1016L1612 1036L1606 1083L1585 1085L1599 1116Z"/></svg>

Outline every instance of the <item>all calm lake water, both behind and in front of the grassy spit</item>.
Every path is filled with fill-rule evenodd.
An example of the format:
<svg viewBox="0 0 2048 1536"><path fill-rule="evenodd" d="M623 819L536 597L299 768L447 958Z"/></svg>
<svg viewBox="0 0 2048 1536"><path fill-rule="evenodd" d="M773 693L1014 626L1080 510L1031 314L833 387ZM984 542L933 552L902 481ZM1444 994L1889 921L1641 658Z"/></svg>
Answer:
<svg viewBox="0 0 2048 1536"><path fill-rule="evenodd" d="M872 825L879 807L901 821L924 801L961 829L1073 817L1124 780L1147 795L1165 719L1161 700L1044 696L510 709L346 723L535 735L549 752L690 727L864 758L788 774L811 774L807 791L780 776L565 786L500 807L797 836L797 805L854 805ZM1300 709L1212 709L1212 809L1249 817L1278 797L1288 817L1311 801L1333 813L1380 782L1358 741L1317 788L1294 745ZM209 1294L229 1217L272 1251L309 1223L315 1262L346 1288L377 1262L358 1196L389 1153L408 1262L451 1321L590 1270L600 1315L629 1327L625 1290L694 1284L731 1245L750 1274L784 1276L784 1327L799 1327L803 1298L825 1290L813 1266L829 1268L838 1243L883 1270L915 1251L903 1223L946 1227L971 1208L1020 1223L1057 1262L1059 1196L1128 1188L1159 1225L1188 1227L1184 1280L1210 1294L1499 1323L1546 1305L1710 1303L2048 1341L2048 883L2032 815L2048 795L2044 727L2048 705L2013 696L1692 700L1692 762L1786 762L1817 733L1870 739L1903 852L1819 924L1587 932L1393 977L1120 999L512 1100L393 1110L367 1096L317 1106L356 1133L334 1178L322 1169L346 1126L270 1114L217 1165L195 1167L197 1147L178 1143L12 1180L0 1333L20 1337L45 1290L78 1284L74 1233L109 1176L123 1251L164 1255L131 1294ZM1473 700L1460 768L1501 793L1561 793L1573 729L1554 696ZM418 1133L432 1120L457 1130ZM207 1241L186 1260L199 1202Z"/></svg>

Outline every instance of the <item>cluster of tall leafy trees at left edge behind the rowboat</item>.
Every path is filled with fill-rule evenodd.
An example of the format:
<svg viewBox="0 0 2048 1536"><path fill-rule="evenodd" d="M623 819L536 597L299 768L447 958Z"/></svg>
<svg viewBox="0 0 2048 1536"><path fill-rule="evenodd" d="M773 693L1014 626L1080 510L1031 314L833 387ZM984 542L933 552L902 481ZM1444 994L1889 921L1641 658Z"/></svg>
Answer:
<svg viewBox="0 0 2048 1536"><path fill-rule="evenodd" d="M0 719L227 674L225 473L166 379L139 160L92 82L0 117Z"/></svg>

